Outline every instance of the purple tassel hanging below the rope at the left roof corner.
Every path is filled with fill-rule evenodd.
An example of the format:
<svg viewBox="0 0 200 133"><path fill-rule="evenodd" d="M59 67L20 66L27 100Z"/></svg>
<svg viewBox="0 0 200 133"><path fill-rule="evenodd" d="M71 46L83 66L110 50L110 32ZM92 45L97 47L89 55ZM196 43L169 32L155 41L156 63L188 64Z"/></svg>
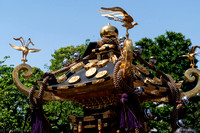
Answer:
<svg viewBox="0 0 200 133"><path fill-rule="evenodd" d="M33 109L32 112L32 131L31 133L49 133L50 125L44 115L42 107Z"/></svg>

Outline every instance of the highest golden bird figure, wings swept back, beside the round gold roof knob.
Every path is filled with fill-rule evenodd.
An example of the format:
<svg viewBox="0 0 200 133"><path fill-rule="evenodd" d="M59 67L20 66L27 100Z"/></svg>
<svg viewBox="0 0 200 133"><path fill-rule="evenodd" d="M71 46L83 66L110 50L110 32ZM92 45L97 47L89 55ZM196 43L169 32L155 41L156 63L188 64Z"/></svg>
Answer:
<svg viewBox="0 0 200 133"><path fill-rule="evenodd" d="M135 25L138 25L137 22L133 22L134 19L122 8L120 7L112 7L112 8L104 8L101 9L106 11L99 11L101 13L108 13L102 14L102 16L107 17L110 20L118 21L123 23L123 27L126 28L126 37L129 37L128 30L133 28ZM123 16L123 18L119 18L119 16ZM133 22L133 23L132 23Z"/></svg>

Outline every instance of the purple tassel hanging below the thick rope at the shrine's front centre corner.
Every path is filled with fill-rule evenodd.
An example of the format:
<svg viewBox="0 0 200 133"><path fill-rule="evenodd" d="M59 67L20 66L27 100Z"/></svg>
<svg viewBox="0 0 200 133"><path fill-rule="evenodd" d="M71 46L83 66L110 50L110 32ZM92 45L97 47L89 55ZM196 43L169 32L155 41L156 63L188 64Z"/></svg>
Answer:
<svg viewBox="0 0 200 133"><path fill-rule="evenodd" d="M141 128L142 125L137 120L133 112L133 108L131 107L131 102L128 101L128 95L126 93L122 94L122 98L120 101L122 103L120 128L123 129Z"/></svg>

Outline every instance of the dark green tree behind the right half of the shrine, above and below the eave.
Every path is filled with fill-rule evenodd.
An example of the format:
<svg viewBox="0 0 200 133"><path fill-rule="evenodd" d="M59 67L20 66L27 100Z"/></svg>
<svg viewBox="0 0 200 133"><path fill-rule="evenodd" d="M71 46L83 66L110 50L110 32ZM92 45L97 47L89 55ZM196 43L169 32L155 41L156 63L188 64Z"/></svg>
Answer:
<svg viewBox="0 0 200 133"><path fill-rule="evenodd" d="M185 39L181 33L175 33L167 31L164 35L156 37L154 40L149 38L143 38L136 42L136 45L140 45L143 48L142 57L149 61L150 56L155 56L157 59L156 68L171 75L176 81L184 80L183 74L185 70L190 68L190 62L186 58L182 58L181 55L185 55L190 51L191 41ZM154 75L155 72L152 72ZM159 75L156 75L159 76ZM194 85L191 83L184 83L183 91L191 90ZM180 117L183 117L186 122L186 126L191 128L200 129L200 123L197 123L195 119L199 117L199 97L190 99L189 105L182 108L180 111ZM170 132L170 113L172 107L168 104L158 104L147 102L144 106L150 106L155 118L151 121L151 129L156 128L158 132ZM194 112L191 111L193 109ZM192 116L194 117L192 118Z"/></svg>

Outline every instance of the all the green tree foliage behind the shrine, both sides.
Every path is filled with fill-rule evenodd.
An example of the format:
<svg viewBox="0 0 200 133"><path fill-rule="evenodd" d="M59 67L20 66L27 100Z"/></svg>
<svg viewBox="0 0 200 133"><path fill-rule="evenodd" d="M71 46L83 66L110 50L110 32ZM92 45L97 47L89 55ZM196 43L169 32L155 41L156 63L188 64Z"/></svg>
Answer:
<svg viewBox="0 0 200 133"><path fill-rule="evenodd" d="M72 60L72 55L79 52L83 55L88 46L88 41L85 44L74 46L67 46L56 50L52 54L51 71L56 71L62 68L62 61L64 58ZM171 75L176 81L183 80L183 73L190 66L187 58L180 58L181 55L187 54L191 46L191 41L185 39L181 33L166 32L154 40L143 38L136 42L136 45L143 47L142 57L149 60L150 56L157 58L156 67L161 71ZM6 56L3 61L0 61L0 129L4 130L22 130L29 108L29 100L26 95L21 93L13 84L12 71L13 66L4 65ZM31 88L37 85L36 79L41 79L44 74L40 69L33 68L34 74L30 79L24 79L20 76L27 87ZM156 73L152 72L156 75ZM159 75L157 75L159 76ZM191 83L184 83L183 90L190 90L193 86ZM186 122L186 126L200 130L200 97L196 96L190 99L187 106L180 110L180 118ZM153 112L154 119L151 121L150 128L156 128L158 132L170 132L170 113L172 107L168 104L158 104L153 102L146 102L143 108L149 106ZM70 122L69 115L83 115L82 106L69 101L55 101L46 102L43 106L46 116L51 123L53 132L69 132ZM25 125L25 130L30 130L29 122Z"/></svg>

